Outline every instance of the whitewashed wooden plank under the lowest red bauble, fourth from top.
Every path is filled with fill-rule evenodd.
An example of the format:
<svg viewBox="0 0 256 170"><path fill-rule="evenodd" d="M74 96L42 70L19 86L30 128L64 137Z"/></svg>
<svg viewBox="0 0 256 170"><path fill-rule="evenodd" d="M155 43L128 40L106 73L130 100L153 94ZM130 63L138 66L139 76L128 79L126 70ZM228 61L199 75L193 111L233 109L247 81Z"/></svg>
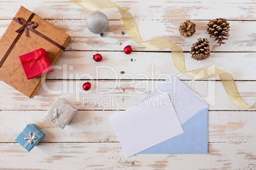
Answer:
<svg viewBox="0 0 256 170"><path fill-rule="evenodd" d="M86 77L80 77L83 78ZM48 110L58 97L80 110L125 110L162 81L91 81L90 91L83 91L84 82L87 81L46 81L34 98L27 98L0 82L0 110ZM232 103L220 81L183 82L208 102L210 110L245 110ZM243 100L252 105L256 100L256 81L238 81L236 86ZM180 102L178 98L175 101Z"/></svg>

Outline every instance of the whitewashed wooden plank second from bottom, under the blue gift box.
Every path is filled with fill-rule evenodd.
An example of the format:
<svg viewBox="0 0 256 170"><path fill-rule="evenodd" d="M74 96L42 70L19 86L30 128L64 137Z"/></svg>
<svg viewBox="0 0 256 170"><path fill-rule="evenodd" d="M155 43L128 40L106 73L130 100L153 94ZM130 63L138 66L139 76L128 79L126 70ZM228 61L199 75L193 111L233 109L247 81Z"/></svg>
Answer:
<svg viewBox="0 0 256 170"><path fill-rule="evenodd" d="M42 142L117 142L108 117L118 111L79 111L60 129L45 119L46 111L1 111L0 143L13 142L27 124L46 135ZM209 142L256 142L256 112L209 112Z"/></svg>

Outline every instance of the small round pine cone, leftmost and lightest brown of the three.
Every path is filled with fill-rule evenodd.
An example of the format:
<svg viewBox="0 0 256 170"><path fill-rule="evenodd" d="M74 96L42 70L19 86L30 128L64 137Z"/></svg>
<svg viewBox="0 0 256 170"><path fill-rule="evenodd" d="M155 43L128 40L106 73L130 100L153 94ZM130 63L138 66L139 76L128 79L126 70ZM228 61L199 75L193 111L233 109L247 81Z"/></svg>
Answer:
<svg viewBox="0 0 256 170"><path fill-rule="evenodd" d="M180 35L183 37L190 37L196 32L196 24L187 20L180 24Z"/></svg>

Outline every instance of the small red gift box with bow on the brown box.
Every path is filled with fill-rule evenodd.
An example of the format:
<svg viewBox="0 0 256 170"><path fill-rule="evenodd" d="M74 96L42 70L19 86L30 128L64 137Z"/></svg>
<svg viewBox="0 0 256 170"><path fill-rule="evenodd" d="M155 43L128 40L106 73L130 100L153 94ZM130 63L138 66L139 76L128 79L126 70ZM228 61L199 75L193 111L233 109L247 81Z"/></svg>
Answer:
<svg viewBox="0 0 256 170"><path fill-rule="evenodd" d="M45 49L40 48L18 56L27 79L32 79L53 72L52 64Z"/></svg>

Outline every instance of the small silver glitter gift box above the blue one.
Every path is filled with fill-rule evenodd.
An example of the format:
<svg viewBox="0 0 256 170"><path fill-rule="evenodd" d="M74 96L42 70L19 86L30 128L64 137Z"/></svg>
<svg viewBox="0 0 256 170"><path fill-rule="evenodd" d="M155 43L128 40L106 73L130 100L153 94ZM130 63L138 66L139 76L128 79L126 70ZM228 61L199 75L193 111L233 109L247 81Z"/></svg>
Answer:
<svg viewBox="0 0 256 170"><path fill-rule="evenodd" d="M66 100L63 98L57 98L50 110L46 113L45 118L64 129L76 112L77 109Z"/></svg>

